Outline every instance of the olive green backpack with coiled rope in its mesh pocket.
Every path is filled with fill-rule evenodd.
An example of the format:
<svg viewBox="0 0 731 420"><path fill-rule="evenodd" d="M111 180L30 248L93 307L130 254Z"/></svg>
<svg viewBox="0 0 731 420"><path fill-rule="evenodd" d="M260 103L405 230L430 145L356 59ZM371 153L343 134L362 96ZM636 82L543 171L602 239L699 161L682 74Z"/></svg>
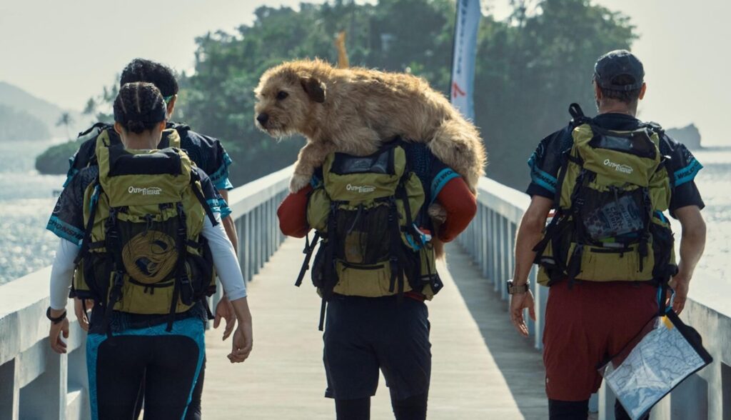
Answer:
<svg viewBox="0 0 731 420"><path fill-rule="evenodd" d="M177 132L166 131L179 144ZM105 328L118 310L170 314L170 329L175 313L216 288L201 235L204 218L216 220L194 163L173 147L124 149L107 131L96 139L96 158L99 176L84 194L86 230L71 296L103 307Z"/></svg>

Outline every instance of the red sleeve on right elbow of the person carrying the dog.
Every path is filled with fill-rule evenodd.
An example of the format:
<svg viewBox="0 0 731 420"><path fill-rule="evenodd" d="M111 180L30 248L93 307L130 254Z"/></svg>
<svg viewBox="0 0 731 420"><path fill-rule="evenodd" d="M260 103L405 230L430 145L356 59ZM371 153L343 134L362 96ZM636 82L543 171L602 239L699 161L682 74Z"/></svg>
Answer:
<svg viewBox="0 0 731 420"><path fill-rule="evenodd" d="M436 200L447 211L447 221L439 228L439 239L454 240L477 214L477 198L469 192L462 178L451 179L439 191Z"/></svg>

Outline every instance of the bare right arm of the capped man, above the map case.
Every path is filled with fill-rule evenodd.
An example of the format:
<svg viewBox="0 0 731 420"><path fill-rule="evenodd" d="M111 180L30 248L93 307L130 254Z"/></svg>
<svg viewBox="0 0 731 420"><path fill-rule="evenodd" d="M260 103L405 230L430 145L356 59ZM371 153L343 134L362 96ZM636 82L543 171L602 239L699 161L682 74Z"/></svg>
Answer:
<svg viewBox="0 0 731 420"><path fill-rule="evenodd" d="M670 287L675 290L673 310L679 314L685 307L693 271L705 249L705 221L698 206L684 206L675 209L674 213L681 222L682 231L678 274L670 280Z"/></svg>

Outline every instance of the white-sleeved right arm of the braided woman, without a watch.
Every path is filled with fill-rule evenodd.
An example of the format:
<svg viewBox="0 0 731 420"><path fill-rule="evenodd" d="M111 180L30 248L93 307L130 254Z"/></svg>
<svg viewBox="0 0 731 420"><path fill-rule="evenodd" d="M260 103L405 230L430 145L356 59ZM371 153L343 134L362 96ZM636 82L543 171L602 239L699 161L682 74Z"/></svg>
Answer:
<svg viewBox="0 0 731 420"><path fill-rule="evenodd" d="M216 214L216 222L219 223L214 226L211 220L206 218L202 234L205 239L208 239L208 246L211 247L211 254L213 255L213 265L216 267L221 285L223 285L224 292L228 296L238 319L238 328L232 340L232 350L228 355L232 363L238 363L249 357L253 347L251 312L249 311L249 303L246 300L246 283L241 274L238 258L236 258L233 244L227 238L226 231L220 223L219 214Z"/></svg>

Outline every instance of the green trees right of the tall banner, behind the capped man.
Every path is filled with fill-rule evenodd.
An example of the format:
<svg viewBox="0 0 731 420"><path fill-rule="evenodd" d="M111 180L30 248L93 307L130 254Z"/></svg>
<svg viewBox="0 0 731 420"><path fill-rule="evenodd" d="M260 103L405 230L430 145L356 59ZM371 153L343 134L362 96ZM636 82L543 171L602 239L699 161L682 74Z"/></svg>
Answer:
<svg viewBox="0 0 731 420"><path fill-rule="evenodd" d="M569 104L594 109L594 61L629 49L636 35L629 18L588 0L515 6L510 24L489 18L482 24L474 105L491 154L488 176L522 190L527 158L542 137L569 121Z"/></svg>

